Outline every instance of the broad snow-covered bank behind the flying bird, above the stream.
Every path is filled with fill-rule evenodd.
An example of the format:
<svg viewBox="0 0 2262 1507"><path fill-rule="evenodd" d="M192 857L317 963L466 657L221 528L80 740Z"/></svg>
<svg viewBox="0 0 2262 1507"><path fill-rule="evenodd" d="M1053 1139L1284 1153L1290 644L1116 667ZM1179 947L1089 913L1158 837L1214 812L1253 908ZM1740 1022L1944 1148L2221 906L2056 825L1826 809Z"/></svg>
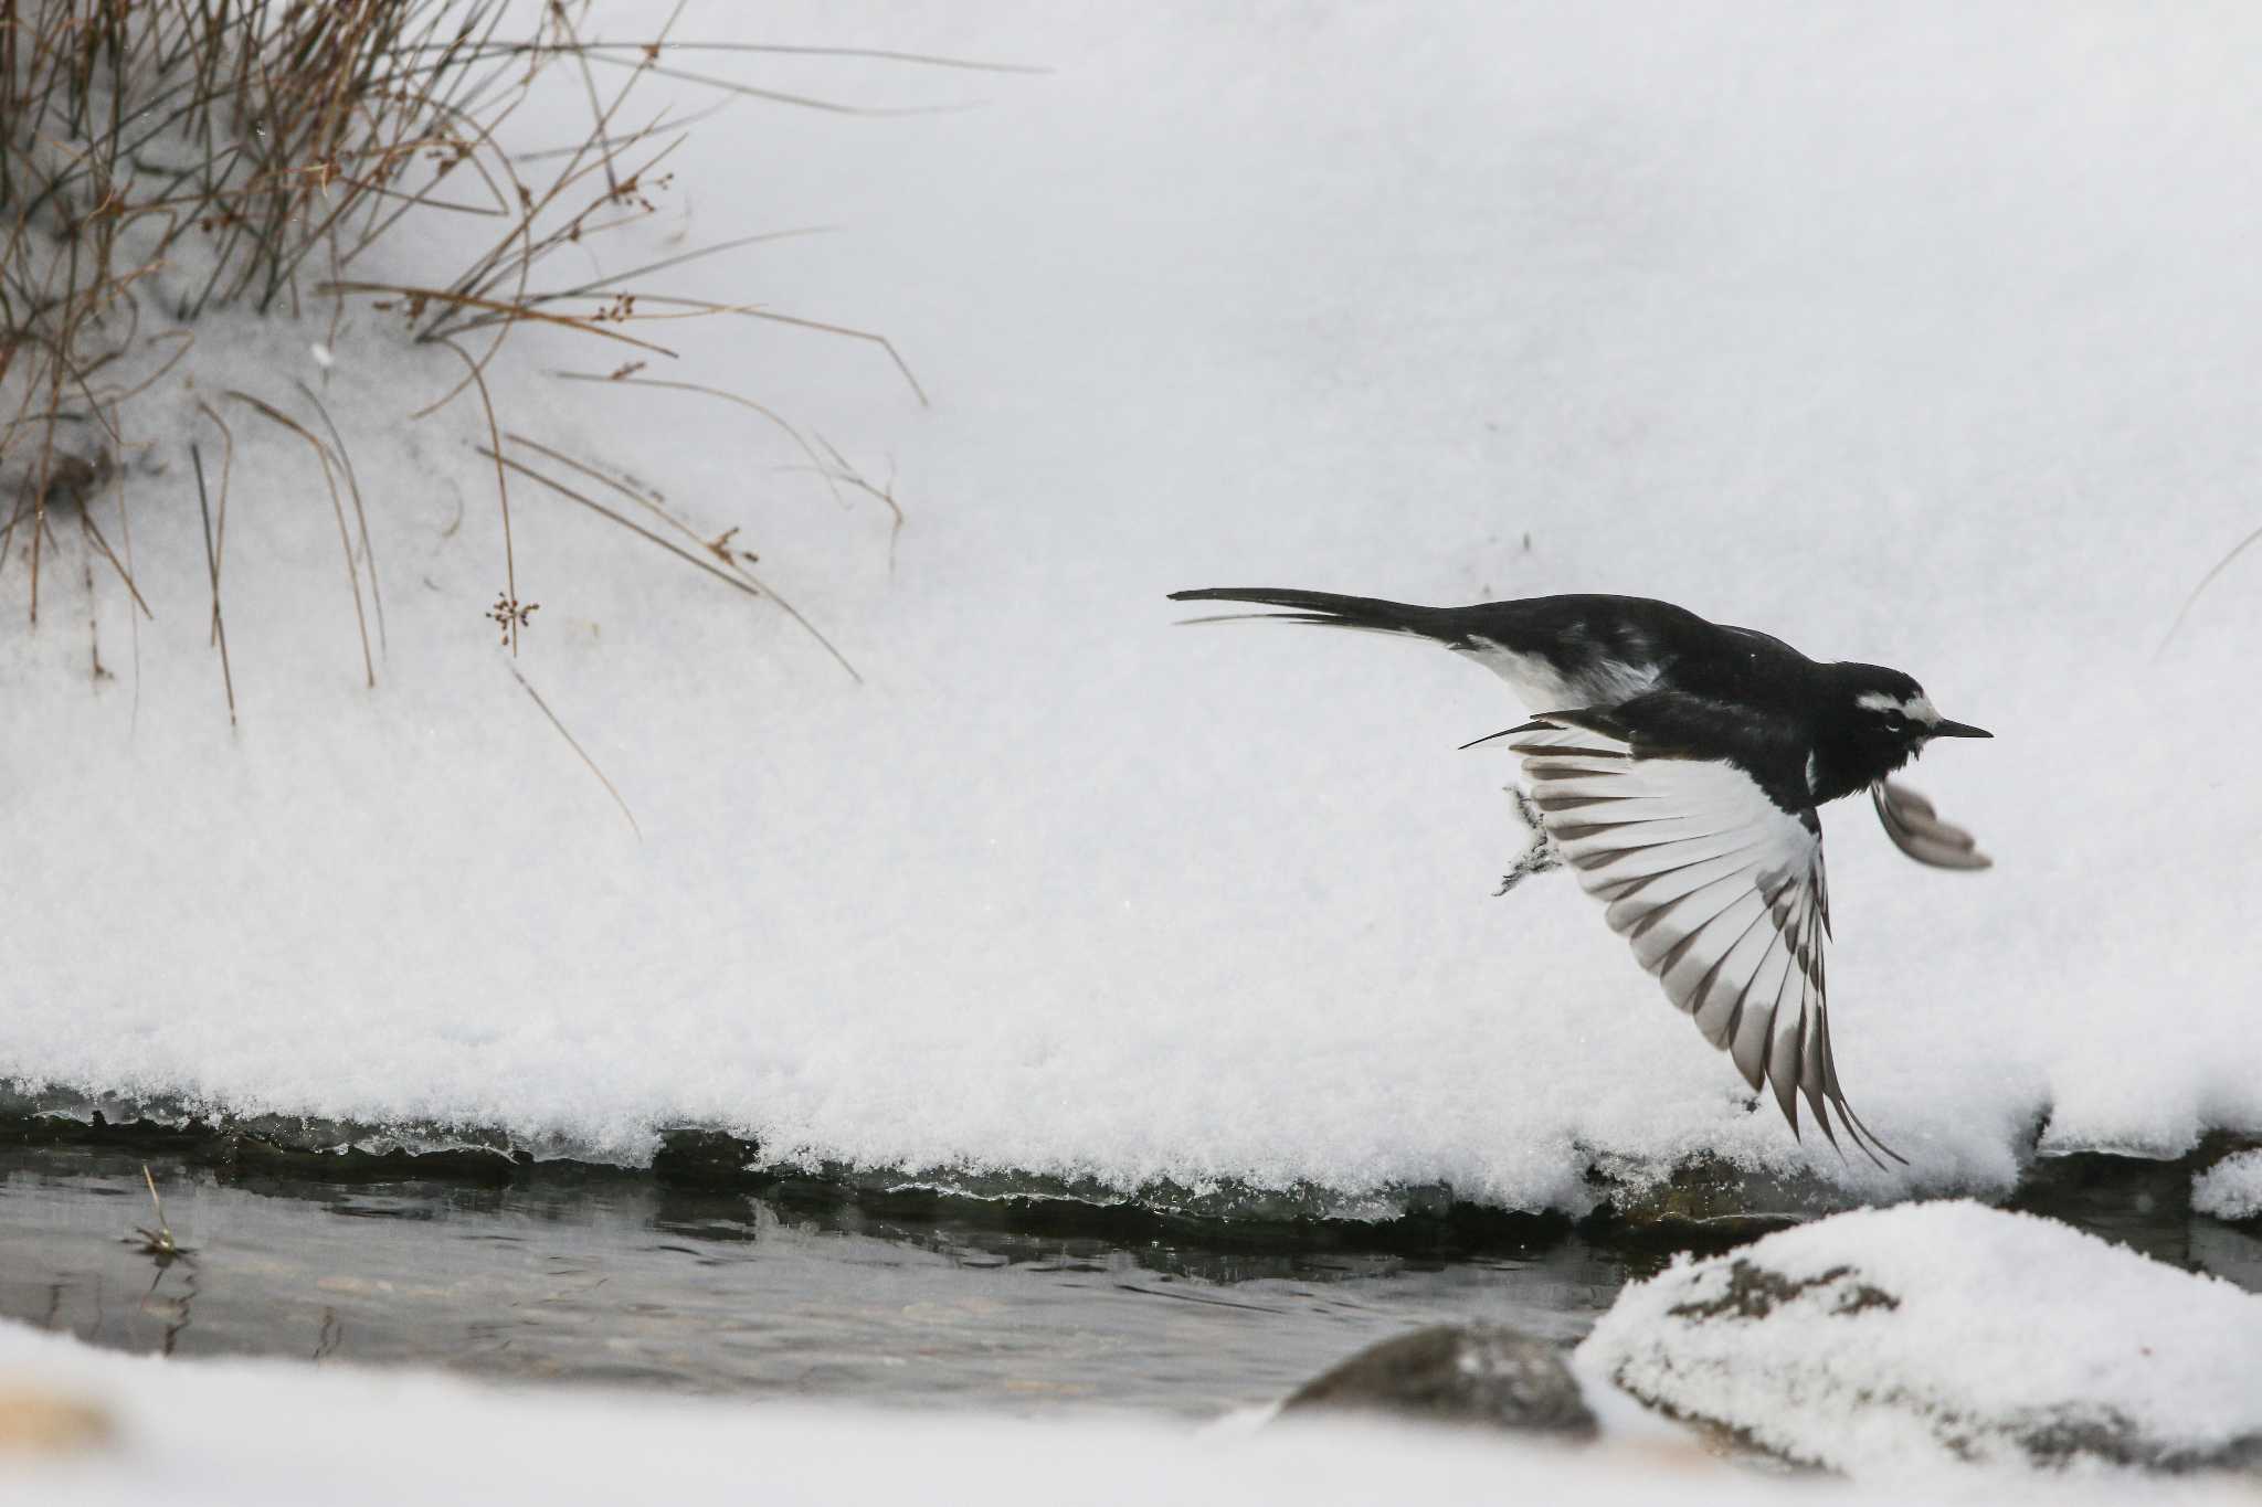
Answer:
<svg viewBox="0 0 2262 1507"><path fill-rule="evenodd" d="M665 325L656 375L893 477L893 551L746 409L543 377L615 364L570 337L498 368L507 427L737 526L864 682L513 486L518 669L631 831L480 617L475 407L407 423L455 357L362 314L323 391L380 682L305 445L228 409L231 732L190 400L323 373L312 328L206 328L197 393L129 416L154 621L100 563L88 612L68 533L36 633L0 572L0 1073L622 1159L701 1121L1120 1186L1579 1207L1595 1157L1696 1150L1862 1186L1746 1114L1574 886L1491 897L1511 770L1454 752L1516 714L1491 678L1163 601L1613 590L1905 667L1997 734L1914 773L1993 872L1825 816L1839 1066L1907 1186L2004 1188L2045 1116L2149 1152L2262 1125L2262 795L2226 752L2262 737L2262 556L2156 655L2262 524L2262 16L715 2L681 34L1052 68L710 56L979 108L740 102L651 235L586 246L837 226L661 285L884 330L932 409L776 325Z"/></svg>

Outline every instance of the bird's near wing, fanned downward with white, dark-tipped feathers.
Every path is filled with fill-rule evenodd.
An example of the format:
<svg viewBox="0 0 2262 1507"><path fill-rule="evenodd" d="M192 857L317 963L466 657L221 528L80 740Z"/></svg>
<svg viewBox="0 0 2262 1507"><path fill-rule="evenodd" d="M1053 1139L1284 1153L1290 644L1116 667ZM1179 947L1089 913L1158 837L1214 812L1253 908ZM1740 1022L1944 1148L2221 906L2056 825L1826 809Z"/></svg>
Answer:
<svg viewBox="0 0 2262 1507"><path fill-rule="evenodd" d="M1830 895L1814 811L1785 811L1735 764L1638 757L1577 716L1527 723L1509 748L1579 886L1706 1042L1753 1089L1773 1084L1794 1134L1803 1094L1832 1146L1834 1109L1871 1161L1905 1161L1846 1107L1830 1060Z"/></svg>

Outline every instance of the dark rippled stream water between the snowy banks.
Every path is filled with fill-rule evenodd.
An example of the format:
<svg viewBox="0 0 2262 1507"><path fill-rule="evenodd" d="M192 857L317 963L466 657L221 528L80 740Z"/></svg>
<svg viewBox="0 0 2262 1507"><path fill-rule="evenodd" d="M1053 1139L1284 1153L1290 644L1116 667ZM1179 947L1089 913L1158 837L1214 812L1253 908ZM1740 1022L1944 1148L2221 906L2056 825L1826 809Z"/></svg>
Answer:
<svg viewBox="0 0 2262 1507"><path fill-rule="evenodd" d="M898 1405L1215 1417L1414 1324L1586 1333L1626 1261L1113 1243L615 1175L328 1184L147 1157L195 1256L161 1265L143 1155L0 1148L0 1315L124 1351Z"/></svg>

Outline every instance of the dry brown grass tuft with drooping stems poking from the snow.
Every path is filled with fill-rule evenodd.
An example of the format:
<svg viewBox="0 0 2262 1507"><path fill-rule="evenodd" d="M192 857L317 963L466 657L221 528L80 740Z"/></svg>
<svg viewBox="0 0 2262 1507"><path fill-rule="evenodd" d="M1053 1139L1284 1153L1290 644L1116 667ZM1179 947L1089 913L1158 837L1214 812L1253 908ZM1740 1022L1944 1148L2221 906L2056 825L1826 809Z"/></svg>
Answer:
<svg viewBox="0 0 2262 1507"><path fill-rule="evenodd" d="M679 43L667 27L636 41L590 38L584 36L586 0L550 0L527 36L502 34L511 16L525 11L507 0L0 0L0 210L7 224L0 244L0 572L23 542L34 624L43 556L57 545L52 520L63 511L77 513L88 558L100 556L147 610L133 583L131 540L113 551L93 502L115 484L124 531L131 450L120 411L192 352L197 321L217 310L326 316L335 346L348 300L360 300L398 321L409 341L452 352L452 386L418 418L466 393L484 409L484 456L495 472L504 554L498 624L511 648L532 608L520 606L509 474L534 477L627 524L622 513L563 486L525 452L627 490L602 468L516 436L511 445L520 454L507 454L486 373L520 325L566 330L622 352L624 359L606 361L606 375L575 373L579 380L665 386L751 409L789 436L808 470L835 495L841 486L869 493L900 526L891 486L857 477L837 450L812 443L771 404L638 375L674 359L656 334L665 321L756 319L873 343L925 402L909 366L871 330L751 303L679 298L645 285L697 258L808 230L703 246L597 280L547 285L543 273L559 251L656 212L654 197L672 181L667 160L694 117L647 108L638 88L649 79L803 108L903 113L756 88L665 61L674 54L830 52L959 70L991 66L923 54ZM570 68L577 93L588 99L586 136L554 149L504 151L498 133L550 68ZM480 230L477 251L455 276L355 276L366 253L400 226L430 226L437 217ZM226 441L217 506L201 454L195 456L206 511L210 633L226 673L222 585L235 436L215 407L197 407ZM369 504L339 425L305 384L292 393L231 389L219 407L274 425L312 450L337 520L360 671L375 685L385 599ZM629 499L645 511L656 506L633 490ZM690 533L681 520L665 513L661 520ZM679 549L661 531L627 526L776 601L731 549L697 533L690 549ZM792 617L846 667L805 617ZM233 687L228 705L233 716Z"/></svg>

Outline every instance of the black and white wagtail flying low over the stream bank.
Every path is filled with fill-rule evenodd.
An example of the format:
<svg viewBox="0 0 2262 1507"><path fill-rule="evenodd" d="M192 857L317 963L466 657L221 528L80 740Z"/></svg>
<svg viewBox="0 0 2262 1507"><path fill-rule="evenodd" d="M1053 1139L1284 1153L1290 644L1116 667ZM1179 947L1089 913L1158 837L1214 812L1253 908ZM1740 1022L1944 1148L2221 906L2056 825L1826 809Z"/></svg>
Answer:
<svg viewBox="0 0 2262 1507"><path fill-rule="evenodd" d="M1871 1148L1907 1161L1846 1107L1830 1057L1814 809L1866 789L1900 852L1986 868L1970 834L1887 775L1932 739L1993 734L1943 718L1898 669L1819 664L1644 596L1416 608L1235 585L1172 601L1246 601L1287 610L1242 617L1423 637L1506 680L1534 721L1493 737L1511 739L1545 836L1667 999L1753 1091L1773 1082L1792 1134L1805 1094L1832 1146L1825 1105L1871 1161Z"/></svg>

